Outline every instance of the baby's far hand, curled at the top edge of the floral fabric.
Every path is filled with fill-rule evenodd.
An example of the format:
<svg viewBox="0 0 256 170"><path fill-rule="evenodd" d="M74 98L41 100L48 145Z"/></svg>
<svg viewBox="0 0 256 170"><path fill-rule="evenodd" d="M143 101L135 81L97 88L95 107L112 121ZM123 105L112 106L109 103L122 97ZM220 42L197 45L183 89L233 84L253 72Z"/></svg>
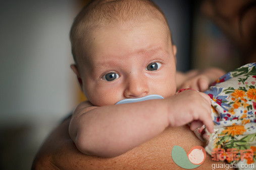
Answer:
<svg viewBox="0 0 256 170"><path fill-rule="evenodd" d="M211 85L211 80L206 75L197 75L188 80L186 80L180 89L194 89L200 92L208 90Z"/></svg>

